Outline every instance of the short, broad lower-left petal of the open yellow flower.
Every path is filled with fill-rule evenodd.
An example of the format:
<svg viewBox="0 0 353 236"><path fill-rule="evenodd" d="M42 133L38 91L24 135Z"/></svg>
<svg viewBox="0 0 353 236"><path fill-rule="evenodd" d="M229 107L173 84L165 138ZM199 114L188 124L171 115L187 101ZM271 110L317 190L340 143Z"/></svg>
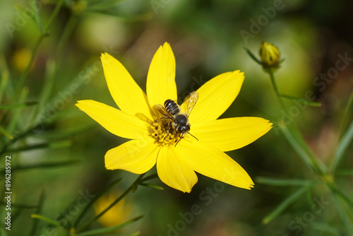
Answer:
<svg viewBox="0 0 353 236"><path fill-rule="evenodd" d="M155 165L159 150L153 142L152 138L131 140L110 149L105 154L105 167L135 174L148 172Z"/></svg>

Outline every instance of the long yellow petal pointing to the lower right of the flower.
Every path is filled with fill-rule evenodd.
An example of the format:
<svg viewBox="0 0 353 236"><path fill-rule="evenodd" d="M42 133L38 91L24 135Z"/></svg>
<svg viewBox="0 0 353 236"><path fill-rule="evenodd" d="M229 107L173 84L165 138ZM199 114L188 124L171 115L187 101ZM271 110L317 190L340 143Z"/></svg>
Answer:
<svg viewBox="0 0 353 236"><path fill-rule="evenodd" d="M181 140L177 148L182 151L193 170L201 175L243 189L253 187L248 173L219 149L191 138Z"/></svg>

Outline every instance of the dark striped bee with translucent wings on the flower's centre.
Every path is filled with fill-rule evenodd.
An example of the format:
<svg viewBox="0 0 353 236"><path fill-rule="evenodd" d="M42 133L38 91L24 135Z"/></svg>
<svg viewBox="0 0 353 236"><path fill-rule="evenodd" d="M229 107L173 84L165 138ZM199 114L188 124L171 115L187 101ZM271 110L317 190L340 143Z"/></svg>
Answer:
<svg viewBox="0 0 353 236"><path fill-rule="evenodd" d="M164 107L160 104L157 104L155 107L157 110L164 115L164 117L160 119L172 119L172 122L169 122L168 124L168 131L167 134L169 134L169 131L171 129L174 130L175 133L181 134L179 140L175 144L179 143L181 138L183 138L184 134L189 133L190 131L190 123L189 123L189 115L191 113L191 110L193 110L193 107L195 107L196 102L198 101L198 92L192 92L188 96L186 96L184 102L186 102L186 113L181 112L180 106L177 104L177 102L174 102L171 99L167 99L164 102ZM190 134L193 136L192 134ZM195 136L193 136L196 138ZM196 140L198 140L196 138Z"/></svg>

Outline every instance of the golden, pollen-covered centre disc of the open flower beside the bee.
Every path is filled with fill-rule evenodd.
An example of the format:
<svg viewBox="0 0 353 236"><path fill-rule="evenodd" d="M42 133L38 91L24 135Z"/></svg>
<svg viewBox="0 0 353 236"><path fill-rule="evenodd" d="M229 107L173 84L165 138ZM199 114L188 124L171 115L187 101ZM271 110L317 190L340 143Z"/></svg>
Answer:
<svg viewBox="0 0 353 236"><path fill-rule="evenodd" d="M172 125L170 119L157 119L152 124L152 137L155 138L158 144L165 146L167 144L174 144L180 139L181 134L177 133Z"/></svg>

